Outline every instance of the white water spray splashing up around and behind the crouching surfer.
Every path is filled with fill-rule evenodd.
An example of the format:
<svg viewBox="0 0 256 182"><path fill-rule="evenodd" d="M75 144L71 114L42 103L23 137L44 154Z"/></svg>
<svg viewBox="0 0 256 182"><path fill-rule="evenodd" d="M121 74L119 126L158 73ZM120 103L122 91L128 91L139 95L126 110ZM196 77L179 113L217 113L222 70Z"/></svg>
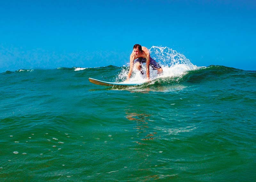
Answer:
<svg viewBox="0 0 256 182"><path fill-rule="evenodd" d="M178 53L169 47L158 47L152 46L149 49L150 56L158 62L162 69L163 73L158 75L156 70L153 70L151 67L150 71L150 79L155 79L157 77L181 77L186 74L190 70L199 69L196 65L193 65L185 55ZM146 73L146 64L142 64L142 69L144 73ZM124 68L116 77L116 81L124 81L127 78L127 74L129 71L129 63L124 65ZM131 81L141 81L146 80L146 74L141 75L140 71L134 68Z"/></svg>

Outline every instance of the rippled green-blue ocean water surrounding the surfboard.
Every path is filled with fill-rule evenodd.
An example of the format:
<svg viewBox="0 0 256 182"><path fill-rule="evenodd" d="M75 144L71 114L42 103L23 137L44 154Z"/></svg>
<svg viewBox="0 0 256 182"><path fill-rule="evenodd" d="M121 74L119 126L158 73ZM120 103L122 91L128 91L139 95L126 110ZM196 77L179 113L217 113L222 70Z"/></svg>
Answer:
<svg viewBox="0 0 256 182"><path fill-rule="evenodd" d="M256 71L170 60L1 73L0 181L255 181Z"/></svg>

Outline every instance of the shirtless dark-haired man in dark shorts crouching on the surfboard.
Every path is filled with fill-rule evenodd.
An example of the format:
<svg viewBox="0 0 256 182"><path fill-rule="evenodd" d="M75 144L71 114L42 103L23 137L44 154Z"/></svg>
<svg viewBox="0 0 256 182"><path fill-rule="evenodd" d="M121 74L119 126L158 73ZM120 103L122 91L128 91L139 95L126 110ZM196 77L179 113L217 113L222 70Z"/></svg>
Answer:
<svg viewBox="0 0 256 182"><path fill-rule="evenodd" d="M135 61L135 63L134 63ZM149 65L158 71L158 73L162 73L163 69L153 58L150 57L147 47L141 47L140 44L135 44L133 46L132 54L130 55L130 69L127 76L127 81L130 79L132 75L133 65L136 69L140 70L143 74L143 70L141 68L141 64L146 62L146 76L149 80Z"/></svg>

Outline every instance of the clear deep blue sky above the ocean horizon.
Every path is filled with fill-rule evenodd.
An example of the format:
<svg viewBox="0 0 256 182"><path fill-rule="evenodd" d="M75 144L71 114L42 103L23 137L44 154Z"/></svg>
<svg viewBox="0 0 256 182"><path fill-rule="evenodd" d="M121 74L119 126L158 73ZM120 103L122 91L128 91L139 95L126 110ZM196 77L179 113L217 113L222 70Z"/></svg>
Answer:
<svg viewBox="0 0 256 182"><path fill-rule="evenodd" d="M0 1L0 72L123 66L136 43L256 70L256 1Z"/></svg>

